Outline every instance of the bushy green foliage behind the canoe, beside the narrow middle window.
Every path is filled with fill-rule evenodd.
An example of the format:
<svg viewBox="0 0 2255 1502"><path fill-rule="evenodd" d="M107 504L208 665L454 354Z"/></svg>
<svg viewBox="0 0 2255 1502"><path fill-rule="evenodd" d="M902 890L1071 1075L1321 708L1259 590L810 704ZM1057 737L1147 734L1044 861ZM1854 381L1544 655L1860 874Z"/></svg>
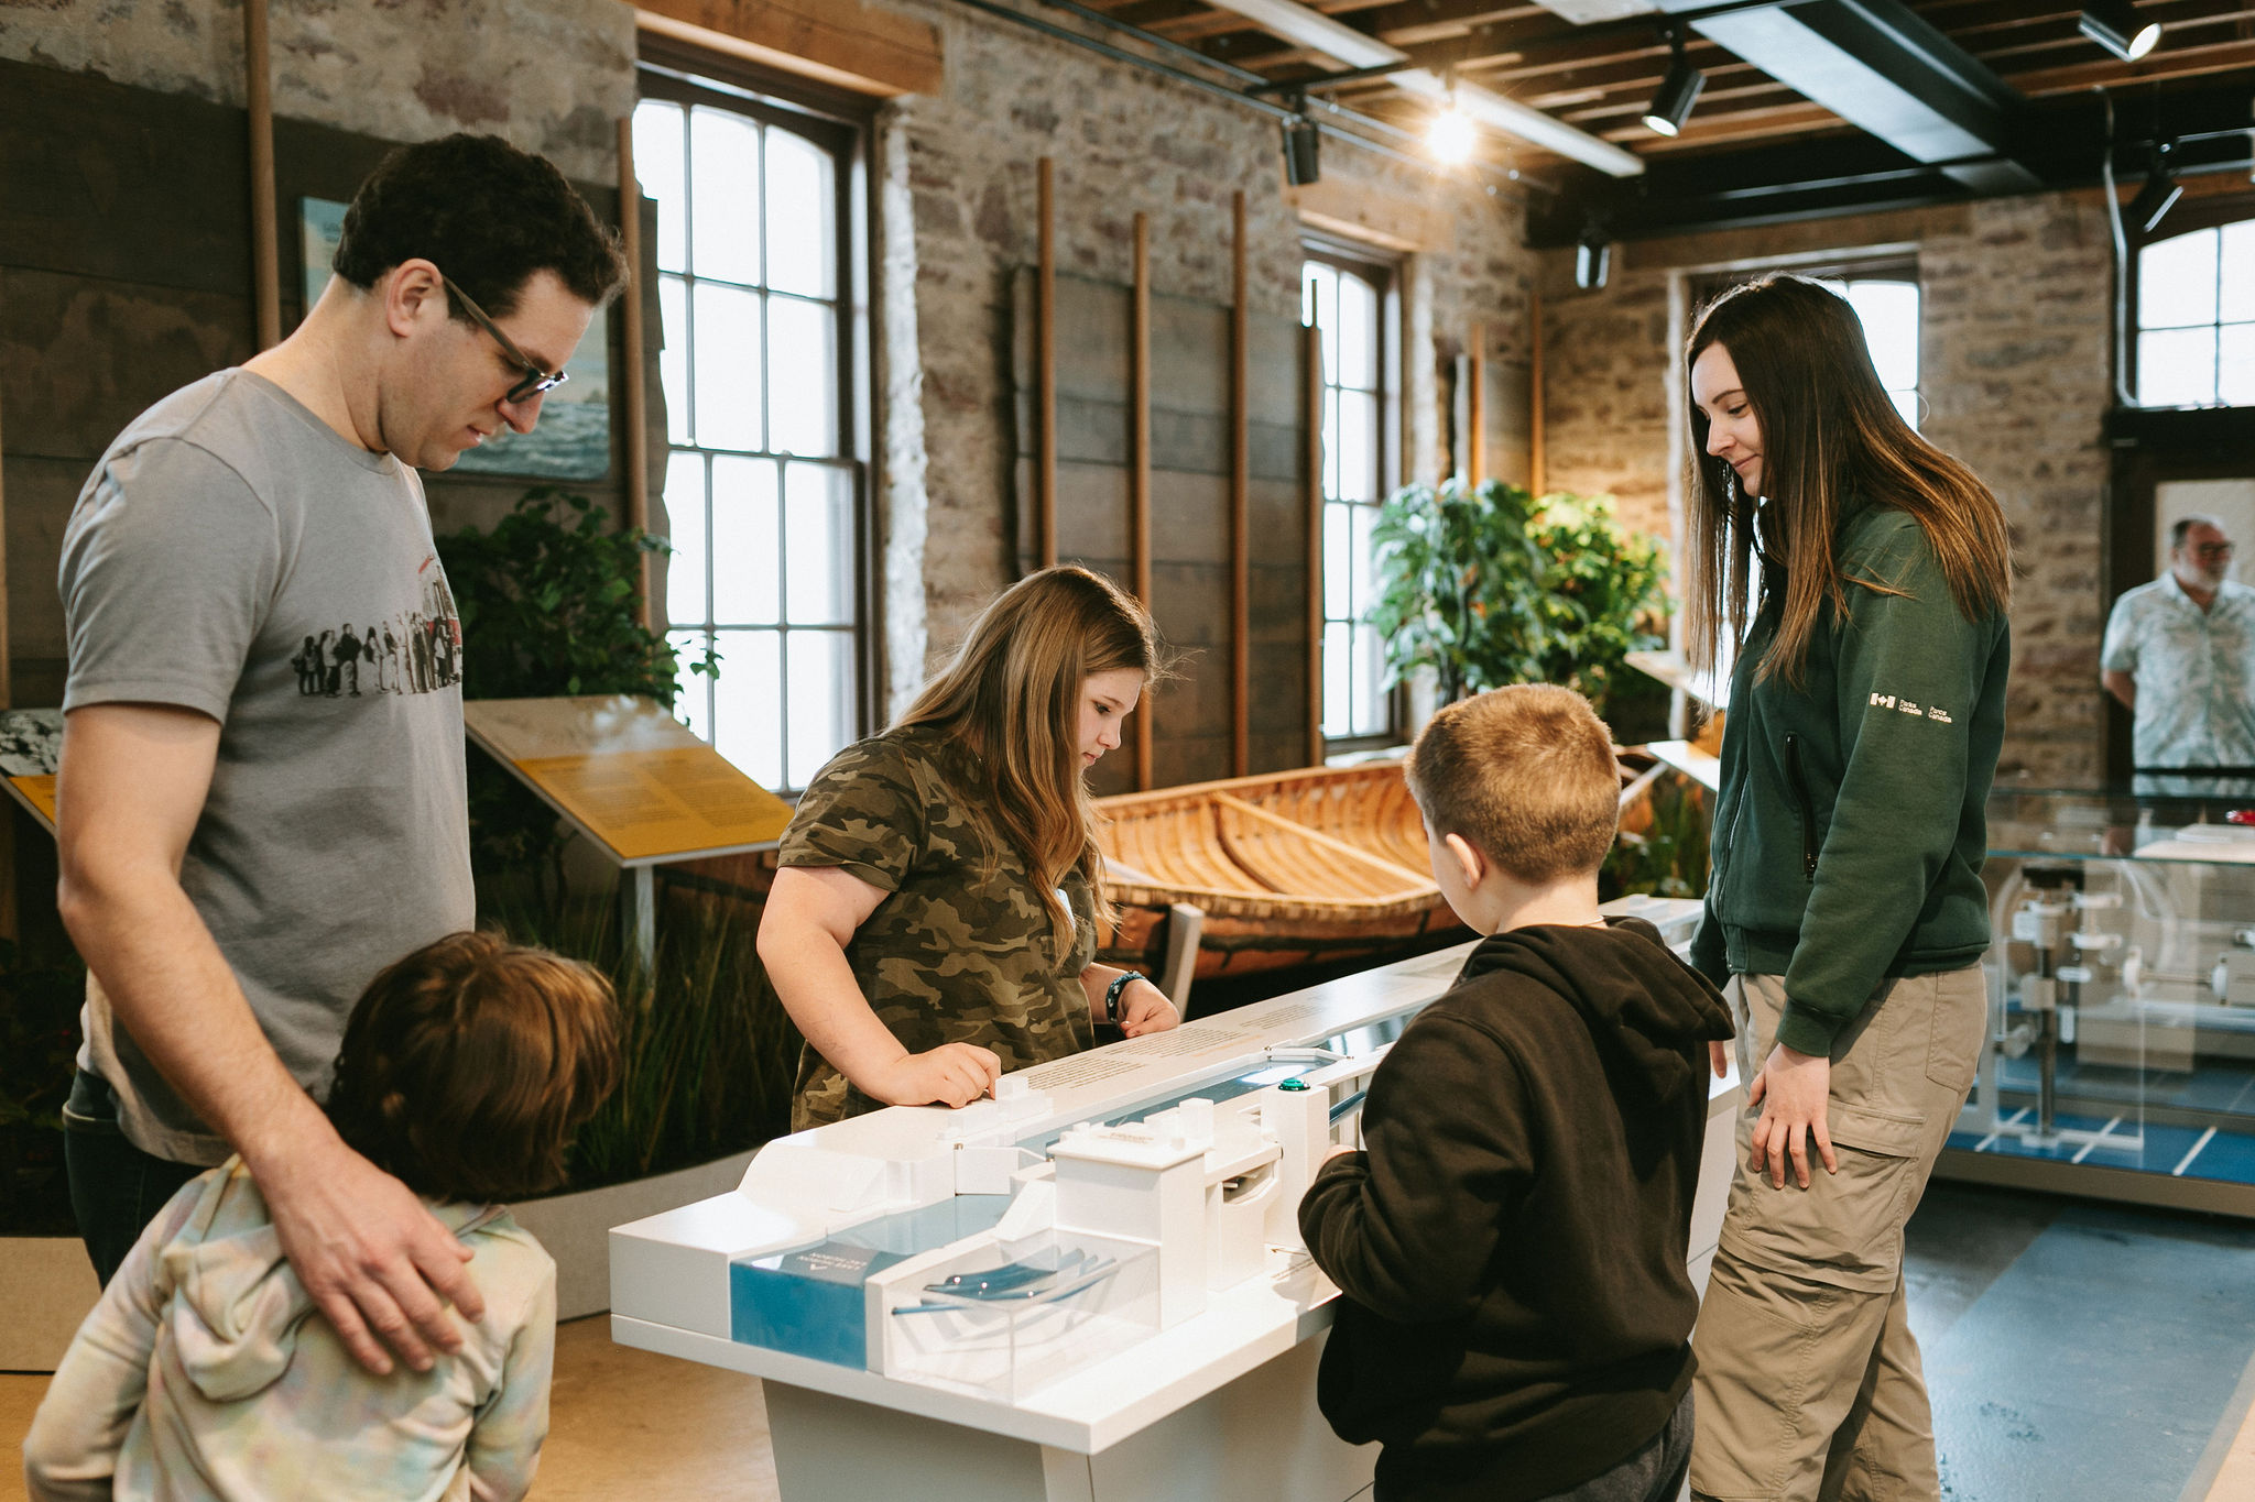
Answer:
<svg viewBox="0 0 2255 1502"><path fill-rule="evenodd" d="M1412 484L1387 498L1371 538L1387 671L1430 667L1443 703L1563 682L1603 712L1621 660L1662 644L1660 547L1626 531L1603 495Z"/></svg>

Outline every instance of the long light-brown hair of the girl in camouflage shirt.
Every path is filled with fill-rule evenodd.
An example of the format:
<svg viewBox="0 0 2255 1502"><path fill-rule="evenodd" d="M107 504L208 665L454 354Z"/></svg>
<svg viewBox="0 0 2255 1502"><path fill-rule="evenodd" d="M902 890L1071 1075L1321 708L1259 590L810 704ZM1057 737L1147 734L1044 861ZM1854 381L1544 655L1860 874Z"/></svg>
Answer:
<svg viewBox="0 0 2255 1502"><path fill-rule="evenodd" d="M979 613L956 655L893 723L940 727L972 752L985 786L970 815L1024 856L1060 939L1071 914L1055 887L1073 867L1109 917L1098 817L1080 777L1080 691L1094 673L1123 667L1143 673L1146 691L1166 676L1143 606L1103 574L1044 567Z"/></svg>

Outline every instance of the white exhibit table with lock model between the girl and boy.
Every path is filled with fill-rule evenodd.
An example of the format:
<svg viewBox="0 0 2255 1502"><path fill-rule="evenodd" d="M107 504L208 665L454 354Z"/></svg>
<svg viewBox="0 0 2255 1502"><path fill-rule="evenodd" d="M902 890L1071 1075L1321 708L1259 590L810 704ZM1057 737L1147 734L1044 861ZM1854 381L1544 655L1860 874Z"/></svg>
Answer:
<svg viewBox="0 0 2255 1502"><path fill-rule="evenodd" d="M1651 917L1682 946L1698 903L1610 910ZM1299 1248L1292 1212L1330 1139L1353 1139L1358 1092L1391 1038L1468 950L1024 1070L1006 1076L1008 1099L961 1112L891 1108L778 1139L735 1193L611 1230L611 1335L760 1376L785 1502L1346 1502L1369 1488L1378 1450L1335 1439L1315 1407L1337 1288ZM1736 1079L1709 1097L1691 1223L1698 1284L1721 1234L1739 1099ZM1168 1142L1173 1166L1161 1162ZM1164 1216L1161 1193L1173 1205ZM961 1205L1008 1212L994 1230L983 1212L963 1239L879 1236ZM1085 1266L1109 1272L1087 1297L1109 1299L1109 1313L1060 1304L1055 1338L1012 1326L1008 1351L981 1335L976 1356L936 1358L945 1342L925 1331L952 1313L918 1288L985 1277L967 1270L1033 1245L1010 1236L1035 1221L1058 1248L1069 1236L1098 1248ZM861 1243L897 1250L855 1250L857 1227ZM1213 1245L1184 1248L1184 1236ZM1236 1263L1222 1241L1240 1245ZM857 1257L866 1266L837 1270ZM792 1268L828 1284L789 1284ZM816 1304L832 1299L837 1329L792 1317L801 1286ZM1042 1326L1026 1315L1024 1329ZM828 1356L794 1349L805 1342Z"/></svg>

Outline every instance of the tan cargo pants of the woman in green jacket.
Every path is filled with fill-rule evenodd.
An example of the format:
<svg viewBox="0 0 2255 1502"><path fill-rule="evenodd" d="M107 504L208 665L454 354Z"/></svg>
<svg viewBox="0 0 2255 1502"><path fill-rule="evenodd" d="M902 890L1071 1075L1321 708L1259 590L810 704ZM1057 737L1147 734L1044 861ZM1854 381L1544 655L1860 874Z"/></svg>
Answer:
<svg viewBox="0 0 2255 1502"><path fill-rule="evenodd" d="M1741 975L1739 1074L1777 1040L1786 991ZM1980 966L1887 982L1833 1045L1827 1130L1811 1184L1739 1169L1691 1347L1698 1430L1691 1491L1716 1502L1935 1502L1935 1423L1903 1317L1903 1225L1957 1121L1989 1025Z"/></svg>

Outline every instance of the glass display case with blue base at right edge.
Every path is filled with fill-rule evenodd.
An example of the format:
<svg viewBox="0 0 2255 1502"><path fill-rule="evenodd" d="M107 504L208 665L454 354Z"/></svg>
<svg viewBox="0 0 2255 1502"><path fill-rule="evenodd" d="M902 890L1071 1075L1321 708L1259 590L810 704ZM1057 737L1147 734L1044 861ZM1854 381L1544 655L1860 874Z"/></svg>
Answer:
<svg viewBox="0 0 2255 1502"><path fill-rule="evenodd" d="M1998 788L1984 880L1989 1038L1937 1173L2255 1216L2255 784Z"/></svg>

